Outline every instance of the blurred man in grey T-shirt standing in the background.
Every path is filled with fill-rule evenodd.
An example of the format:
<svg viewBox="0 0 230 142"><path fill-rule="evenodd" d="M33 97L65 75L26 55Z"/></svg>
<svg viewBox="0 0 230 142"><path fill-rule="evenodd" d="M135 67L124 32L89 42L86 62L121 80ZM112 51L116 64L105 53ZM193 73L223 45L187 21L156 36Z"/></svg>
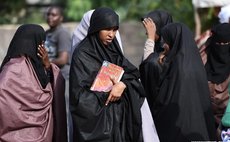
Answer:
<svg viewBox="0 0 230 142"><path fill-rule="evenodd" d="M50 6L46 12L46 21L49 29L46 31L45 47L48 51L50 62L56 64L65 80L65 100L67 108L68 137L71 138L72 121L69 113L69 51L71 48L71 35L63 26L63 10L59 6ZM71 140L69 139L69 142Z"/></svg>

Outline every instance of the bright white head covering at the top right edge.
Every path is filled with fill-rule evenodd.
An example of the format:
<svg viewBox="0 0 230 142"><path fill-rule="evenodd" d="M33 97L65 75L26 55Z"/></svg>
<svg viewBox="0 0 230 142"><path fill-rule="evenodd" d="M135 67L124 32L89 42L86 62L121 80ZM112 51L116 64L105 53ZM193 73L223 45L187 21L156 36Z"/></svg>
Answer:
<svg viewBox="0 0 230 142"><path fill-rule="evenodd" d="M230 21L230 4L221 7L221 10L218 14L220 23L229 23Z"/></svg>

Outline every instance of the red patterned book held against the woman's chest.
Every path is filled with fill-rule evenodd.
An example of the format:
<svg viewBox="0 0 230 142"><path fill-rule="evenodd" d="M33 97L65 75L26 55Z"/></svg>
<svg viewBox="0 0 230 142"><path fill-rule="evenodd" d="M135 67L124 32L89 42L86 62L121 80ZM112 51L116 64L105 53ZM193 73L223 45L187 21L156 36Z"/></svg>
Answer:
<svg viewBox="0 0 230 142"><path fill-rule="evenodd" d="M116 82L120 81L124 70L122 67L110 63L108 61L103 61L102 66L90 88L92 91L99 92L109 92L112 89L113 82L111 77L115 79Z"/></svg>

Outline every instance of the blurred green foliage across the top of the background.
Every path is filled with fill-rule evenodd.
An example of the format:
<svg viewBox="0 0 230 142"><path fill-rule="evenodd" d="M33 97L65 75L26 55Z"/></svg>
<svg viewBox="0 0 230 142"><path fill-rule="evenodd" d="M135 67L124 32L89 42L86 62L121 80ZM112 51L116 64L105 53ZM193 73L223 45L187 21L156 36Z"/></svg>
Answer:
<svg viewBox="0 0 230 142"><path fill-rule="evenodd" d="M26 0L0 0L0 24L4 23L40 23L44 22L41 8L28 7ZM42 0L41 0L42 1ZM194 29L193 6L191 0L51 0L64 7L65 21L80 21L83 14L97 7L113 8L120 20L139 21L148 12L163 9L172 14L174 21L187 24ZM210 26L216 19L213 10L200 11L202 25Z"/></svg>

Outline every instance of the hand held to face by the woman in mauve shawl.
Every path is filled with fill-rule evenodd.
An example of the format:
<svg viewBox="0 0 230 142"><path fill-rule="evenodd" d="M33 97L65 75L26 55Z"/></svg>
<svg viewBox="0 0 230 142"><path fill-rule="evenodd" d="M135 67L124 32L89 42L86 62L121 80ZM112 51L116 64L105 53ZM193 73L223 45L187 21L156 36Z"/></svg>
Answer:
<svg viewBox="0 0 230 142"><path fill-rule="evenodd" d="M46 70L50 69L50 61L48 57L48 53L45 49L44 43L38 46L38 53L37 55L42 59L42 63Z"/></svg>

